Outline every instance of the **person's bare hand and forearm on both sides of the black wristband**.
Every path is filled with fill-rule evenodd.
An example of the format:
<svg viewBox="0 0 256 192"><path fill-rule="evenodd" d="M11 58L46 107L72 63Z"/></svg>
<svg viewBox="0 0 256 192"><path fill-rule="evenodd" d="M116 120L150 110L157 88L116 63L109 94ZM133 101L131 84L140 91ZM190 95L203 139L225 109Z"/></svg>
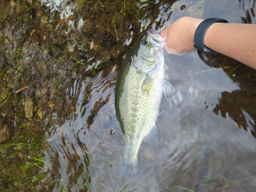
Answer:
<svg viewBox="0 0 256 192"><path fill-rule="evenodd" d="M160 35L167 36L166 51L179 54L194 49L194 35L203 19L181 17ZM205 33L204 44L256 69L256 25L214 23Z"/></svg>

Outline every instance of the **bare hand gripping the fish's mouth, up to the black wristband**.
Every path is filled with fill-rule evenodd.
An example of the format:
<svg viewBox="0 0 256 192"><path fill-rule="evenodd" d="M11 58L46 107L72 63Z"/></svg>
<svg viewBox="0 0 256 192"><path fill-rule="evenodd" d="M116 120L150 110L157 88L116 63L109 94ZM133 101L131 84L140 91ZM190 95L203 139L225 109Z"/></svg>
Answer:
<svg viewBox="0 0 256 192"><path fill-rule="evenodd" d="M194 35L203 19L181 17L164 29L160 35L167 37L165 50L169 54L182 55L194 48Z"/></svg>

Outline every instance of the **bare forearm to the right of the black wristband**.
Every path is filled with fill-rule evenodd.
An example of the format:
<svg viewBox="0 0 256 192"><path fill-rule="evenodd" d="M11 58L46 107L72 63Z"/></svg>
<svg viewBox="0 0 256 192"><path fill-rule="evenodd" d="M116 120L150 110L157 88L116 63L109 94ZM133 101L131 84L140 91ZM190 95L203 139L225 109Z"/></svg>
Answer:
<svg viewBox="0 0 256 192"><path fill-rule="evenodd" d="M205 33L204 44L256 69L256 25L214 23Z"/></svg>

